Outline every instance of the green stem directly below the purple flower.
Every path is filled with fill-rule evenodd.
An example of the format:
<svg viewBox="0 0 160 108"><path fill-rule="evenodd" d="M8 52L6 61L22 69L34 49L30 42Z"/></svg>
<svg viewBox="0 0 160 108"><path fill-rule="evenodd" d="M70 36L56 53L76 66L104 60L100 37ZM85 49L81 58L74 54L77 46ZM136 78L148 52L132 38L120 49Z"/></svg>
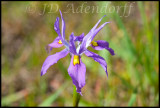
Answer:
<svg viewBox="0 0 160 108"><path fill-rule="evenodd" d="M78 103L80 100L80 94L76 92L76 86L73 86L73 106L78 107Z"/></svg>

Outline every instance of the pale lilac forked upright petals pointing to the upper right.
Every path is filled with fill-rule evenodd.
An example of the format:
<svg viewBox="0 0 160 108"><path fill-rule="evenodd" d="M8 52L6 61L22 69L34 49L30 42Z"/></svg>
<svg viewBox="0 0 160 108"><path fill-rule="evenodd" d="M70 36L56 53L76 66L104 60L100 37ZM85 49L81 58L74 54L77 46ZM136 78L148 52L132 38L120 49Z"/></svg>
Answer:
<svg viewBox="0 0 160 108"><path fill-rule="evenodd" d="M104 16L103 16L104 17ZM102 18L103 18L102 17ZM87 47L90 45L93 38L96 36L96 34L109 22L105 22L102 24L99 28L96 29L102 18L95 24L95 26L90 30L90 32L83 38L81 48L79 53L83 53L87 49Z"/></svg>

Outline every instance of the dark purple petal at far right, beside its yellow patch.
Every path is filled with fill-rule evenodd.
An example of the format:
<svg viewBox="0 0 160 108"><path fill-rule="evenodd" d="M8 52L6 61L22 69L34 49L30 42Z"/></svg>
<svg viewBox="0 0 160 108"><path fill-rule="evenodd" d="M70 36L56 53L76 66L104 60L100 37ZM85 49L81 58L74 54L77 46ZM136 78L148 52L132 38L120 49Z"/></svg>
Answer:
<svg viewBox="0 0 160 108"><path fill-rule="evenodd" d="M98 46L93 46L91 44L91 47L94 48L95 50L102 50L102 49L106 49L108 50L112 55L115 55L114 53L114 50L112 48L109 48L109 43L107 41L104 41L104 40L98 40L98 41L95 41L97 42Z"/></svg>

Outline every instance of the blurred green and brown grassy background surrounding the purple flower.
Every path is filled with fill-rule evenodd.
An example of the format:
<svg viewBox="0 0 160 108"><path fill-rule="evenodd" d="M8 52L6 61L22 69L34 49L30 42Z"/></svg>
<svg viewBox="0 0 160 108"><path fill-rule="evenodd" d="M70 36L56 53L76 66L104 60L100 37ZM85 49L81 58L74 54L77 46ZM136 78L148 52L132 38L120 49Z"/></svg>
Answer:
<svg viewBox="0 0 160 108"><path fill-rule="evenodd" d="M57 37L53 27L59 9L66 23L66 39L72 32L86 35L104 15L100 24L111 22L94 40L108 41L116 55L88 48L105 58L109 76L99 63L83 55L86 85L79 106L159 105L158 1L2 2L1 6L2 106L72 106L69 55L40 76L49 55L45 46Z"/></svg>

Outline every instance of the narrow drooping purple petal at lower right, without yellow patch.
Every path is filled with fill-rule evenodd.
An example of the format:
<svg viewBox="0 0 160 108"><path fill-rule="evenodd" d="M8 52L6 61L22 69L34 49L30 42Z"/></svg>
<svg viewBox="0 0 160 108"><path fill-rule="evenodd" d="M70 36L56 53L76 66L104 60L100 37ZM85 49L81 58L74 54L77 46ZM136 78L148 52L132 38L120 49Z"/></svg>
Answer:
<svg viewBox="0 0 160 108"><path fill-rule="evenodd" d="M103 67L103 69L105 70L107 77L108 77L107 63L106 63L105 59L103 57L99 56L98 54L95 54L89 50L86 50L84 53L88 57L92 57L96 62L98 62Z"/></svg>

